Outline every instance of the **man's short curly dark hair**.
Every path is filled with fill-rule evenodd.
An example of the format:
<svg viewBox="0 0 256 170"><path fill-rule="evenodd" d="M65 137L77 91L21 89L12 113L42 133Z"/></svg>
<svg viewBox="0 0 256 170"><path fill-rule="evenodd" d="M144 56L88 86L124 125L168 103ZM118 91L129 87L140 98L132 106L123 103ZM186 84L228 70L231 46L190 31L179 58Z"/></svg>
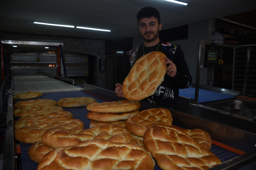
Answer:
<svg viewBox="0 0 256 170"><path fill-rule="evenodd" d="M137 13L136 17L138 20L138 25L139 25L139 20L141 18L151 18L151 17L157 18L158 24L161 23L159 11L152 6L145 6L144 8L141 8L140 11Z"/></svg>

